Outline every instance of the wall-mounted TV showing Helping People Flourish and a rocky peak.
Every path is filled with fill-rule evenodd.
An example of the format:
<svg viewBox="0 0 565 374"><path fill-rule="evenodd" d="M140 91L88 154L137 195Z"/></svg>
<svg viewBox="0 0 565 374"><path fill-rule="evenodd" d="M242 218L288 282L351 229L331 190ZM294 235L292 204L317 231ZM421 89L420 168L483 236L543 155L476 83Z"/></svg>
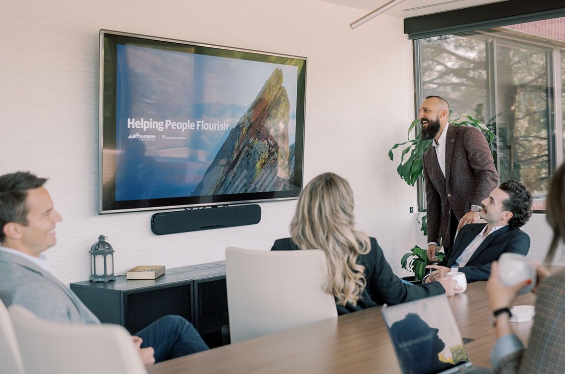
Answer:
<svg viewBox="0 0 565 374"><path fill-rule="evenodd" d="M306 58L101 30L99 214L297 198Z"/></svg>

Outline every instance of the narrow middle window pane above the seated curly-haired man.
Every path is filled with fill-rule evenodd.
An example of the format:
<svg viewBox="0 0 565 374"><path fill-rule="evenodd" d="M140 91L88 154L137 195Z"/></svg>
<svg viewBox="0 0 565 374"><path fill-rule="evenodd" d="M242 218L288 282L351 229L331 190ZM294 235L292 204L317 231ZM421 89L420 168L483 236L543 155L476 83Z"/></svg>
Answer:
<svg viewBox="0 0 565 374"><path fill-rule="evenodd" d="M550 172L547 53L498 44L496 54L498 174L544 199Z"/></svg>

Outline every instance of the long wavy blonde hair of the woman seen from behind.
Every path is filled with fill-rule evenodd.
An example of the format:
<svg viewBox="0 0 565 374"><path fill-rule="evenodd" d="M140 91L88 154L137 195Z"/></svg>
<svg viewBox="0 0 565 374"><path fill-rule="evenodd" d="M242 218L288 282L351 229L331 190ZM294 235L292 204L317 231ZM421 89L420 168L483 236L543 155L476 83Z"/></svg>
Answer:
<svg viewBox="0 0 565 374"><path fill-rule="evenodd" d="M325 291L336 302L355 305L367 285L360 254L371 250L369 237L355 231L353 192L349 183L334 173L321 174L302 190L290 223L293 242L303 250L321 249L328 262Z"/></svg>

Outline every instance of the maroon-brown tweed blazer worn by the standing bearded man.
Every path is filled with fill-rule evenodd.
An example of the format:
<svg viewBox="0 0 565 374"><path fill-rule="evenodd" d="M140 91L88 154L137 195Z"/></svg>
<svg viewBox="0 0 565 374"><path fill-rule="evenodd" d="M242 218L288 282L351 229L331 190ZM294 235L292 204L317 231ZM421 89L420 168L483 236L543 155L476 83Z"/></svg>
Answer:
<svg viewBox="0 0 565 374"><path fill-rule="evenodd" d="M483 133L473 127L449 125L445 148L445 177L435 147L423 155L427 199L428 242L451 245L450 211L461 219L471 205L481 205L498 186L493 156Z"/></svg>

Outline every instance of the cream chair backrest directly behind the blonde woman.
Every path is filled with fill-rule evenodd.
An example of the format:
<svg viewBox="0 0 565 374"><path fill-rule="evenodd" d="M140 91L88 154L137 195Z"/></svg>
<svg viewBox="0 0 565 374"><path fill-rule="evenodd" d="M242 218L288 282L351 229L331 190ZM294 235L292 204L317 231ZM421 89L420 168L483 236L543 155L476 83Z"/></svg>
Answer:
<svg viewBox="0 0 565 374"><path fill-rule="evenodd" d="M321 250L225 251L232 343L337 317Z"/></svg>

